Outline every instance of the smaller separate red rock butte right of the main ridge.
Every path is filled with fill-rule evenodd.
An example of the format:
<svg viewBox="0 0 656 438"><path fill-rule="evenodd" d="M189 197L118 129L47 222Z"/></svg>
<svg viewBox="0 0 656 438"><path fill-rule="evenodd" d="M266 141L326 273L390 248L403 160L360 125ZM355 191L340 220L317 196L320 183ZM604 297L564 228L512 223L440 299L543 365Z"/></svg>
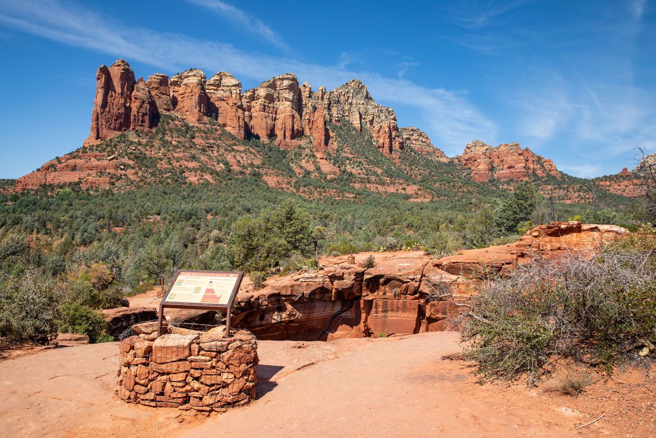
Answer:
<svg viewBox="0 0 656 438"><path fill-rule="evenodd" d="M472 179L477 183L489 181L491 177L500 181L523 181L531 176L561 177L552 160L534 154L529 148L522 149L519 143L493 148L480 140L472 141L455 160L471 169Z"/></svg>

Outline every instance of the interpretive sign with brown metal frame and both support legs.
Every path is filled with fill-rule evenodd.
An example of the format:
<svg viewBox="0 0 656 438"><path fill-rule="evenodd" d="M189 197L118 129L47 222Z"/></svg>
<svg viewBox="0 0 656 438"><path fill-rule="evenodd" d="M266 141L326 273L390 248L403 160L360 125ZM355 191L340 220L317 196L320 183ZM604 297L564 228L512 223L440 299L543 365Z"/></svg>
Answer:
<svg viewBox="0 0 656 438"><path fill-rule="evenodd" d="M216 311L226 309L226 330L230 330L232 303L242 278L241 271L177 271L159 303L157 336L161 334L165 307Z"/></svg>

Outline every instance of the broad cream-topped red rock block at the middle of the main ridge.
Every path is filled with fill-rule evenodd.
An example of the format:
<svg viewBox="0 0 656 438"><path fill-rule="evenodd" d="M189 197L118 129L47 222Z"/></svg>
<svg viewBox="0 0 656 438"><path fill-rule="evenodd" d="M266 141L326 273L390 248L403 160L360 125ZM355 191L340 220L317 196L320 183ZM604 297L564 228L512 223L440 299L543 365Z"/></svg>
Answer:
<svg viewBox="0 0 656 438"><path fill-rule="evenodd" d="M300 89L295 75L288 73L262 82L241 96L244 118L251 133L263 141L279 141L303 135L299 111Z"/></svg>

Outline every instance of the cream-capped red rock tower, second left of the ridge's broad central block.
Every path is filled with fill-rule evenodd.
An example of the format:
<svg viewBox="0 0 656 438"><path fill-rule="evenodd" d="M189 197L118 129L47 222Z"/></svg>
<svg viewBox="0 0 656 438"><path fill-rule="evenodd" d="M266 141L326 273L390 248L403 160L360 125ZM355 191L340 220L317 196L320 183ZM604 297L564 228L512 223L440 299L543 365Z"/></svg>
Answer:
<svg viewBox="0 0 656 438"><path fill-rule="evenodd" d="M207 121L205 74L201 70L190 68L171 77L169 90L173 107L186 121Z"/></svg>

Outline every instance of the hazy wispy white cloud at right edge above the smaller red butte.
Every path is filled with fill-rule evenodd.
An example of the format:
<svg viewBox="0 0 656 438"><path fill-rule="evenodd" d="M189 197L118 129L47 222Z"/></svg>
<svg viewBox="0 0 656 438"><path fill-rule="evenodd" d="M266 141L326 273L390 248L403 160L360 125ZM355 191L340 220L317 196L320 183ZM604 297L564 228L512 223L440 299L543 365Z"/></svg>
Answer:
<svg viewBox="0 0 656 438"><path fill-rule="evenodd" d="M544 74L529 82L519 84L516 97L509 99L522 114L519 130L529 139L565 139L573 149L589 146L594 153L588 160L621 156L636 146L655 147L653 94L630 80L610 85L588 77Z"/></svg>

